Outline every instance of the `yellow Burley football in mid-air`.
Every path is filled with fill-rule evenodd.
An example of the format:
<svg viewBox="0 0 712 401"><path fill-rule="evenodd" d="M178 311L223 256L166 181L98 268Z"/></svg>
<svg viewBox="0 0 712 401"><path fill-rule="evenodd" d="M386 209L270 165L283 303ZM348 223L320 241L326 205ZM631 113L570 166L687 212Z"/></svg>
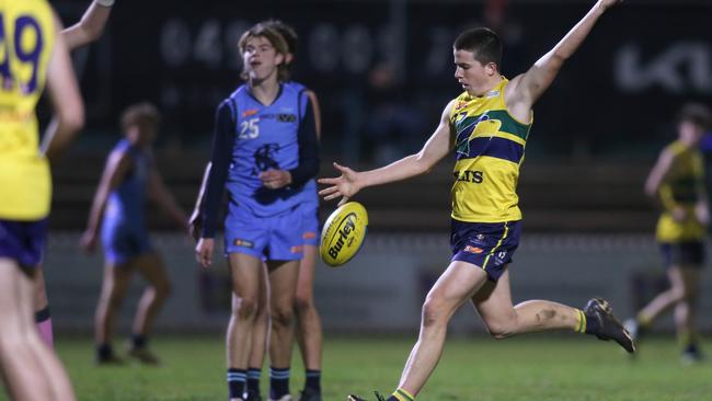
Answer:
<svg viewBox="0 0 712 401"><path fill-rule="evenodd" d="M321 260L332 267L351 261L361 248L367 227L368 214L364 205L348 202L338 207L321 231Z"/></svg>

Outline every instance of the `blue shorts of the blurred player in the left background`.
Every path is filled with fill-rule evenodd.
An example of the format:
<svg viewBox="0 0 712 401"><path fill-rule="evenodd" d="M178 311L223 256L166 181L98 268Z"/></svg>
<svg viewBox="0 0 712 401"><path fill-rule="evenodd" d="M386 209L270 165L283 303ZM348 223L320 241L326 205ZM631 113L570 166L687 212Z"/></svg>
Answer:
<svg viewBox="0 0 712 401"><path fill-rule="evenodd" d="M114 265L124 264L153 251L146 227L134 227L125 221L104 221L102 245L104 259Z"/></svg>

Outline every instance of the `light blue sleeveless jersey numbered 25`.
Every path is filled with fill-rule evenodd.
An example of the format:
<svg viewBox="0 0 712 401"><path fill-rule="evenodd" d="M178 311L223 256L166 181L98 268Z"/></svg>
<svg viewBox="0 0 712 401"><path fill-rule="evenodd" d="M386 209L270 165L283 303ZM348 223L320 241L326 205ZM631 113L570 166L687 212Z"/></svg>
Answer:
<svg viewBox="0 0 712 401"><path fill-rule="evenodd" d="M301 85L284 83L269 105L264 105L241 85L230 95L237 111L236 142L228 172L230 211L245 207L254 215L267 217L297 207L303 186L268 190L260 173L267 170L291 170L299 165L299 123L307 108L308 96Z"/></svg>

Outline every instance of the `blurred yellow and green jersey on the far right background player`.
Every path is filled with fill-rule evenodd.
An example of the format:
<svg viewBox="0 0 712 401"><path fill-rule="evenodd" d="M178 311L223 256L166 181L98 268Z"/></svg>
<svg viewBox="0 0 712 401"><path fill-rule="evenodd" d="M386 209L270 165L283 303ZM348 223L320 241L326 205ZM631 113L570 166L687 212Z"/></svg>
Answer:
<svg viewBox="0 0 712 401"><path fill-rule="evenodd" d="M694 215L700 192L704 185L702 154L697 148L688 148L675 141L665 148L675 156L667 180L661 185L659 195L665 211L657 220L656 239L659 242L700 241L704 239L704 226ZM675 206L687 210L688 219L678 222L670 213Z"/></svg>

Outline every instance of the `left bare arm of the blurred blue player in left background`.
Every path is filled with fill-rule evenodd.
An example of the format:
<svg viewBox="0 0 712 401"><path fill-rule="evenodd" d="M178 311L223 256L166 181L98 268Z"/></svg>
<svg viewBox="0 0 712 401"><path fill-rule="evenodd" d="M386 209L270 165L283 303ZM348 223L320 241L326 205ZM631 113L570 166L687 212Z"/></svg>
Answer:
<svg viewBox="0 0 712 401"><path fill-rule="evenodd" d="M104 173L96 188L96 194L94 194L91 211L89 213L87 231L84 231L81 239L81 245L87 251L92 251L96 245L99 229L102 225L108 195L120 184L126 172L130 169L131 163L131 159L126 151L114 151L108 156Z"/></svg>

